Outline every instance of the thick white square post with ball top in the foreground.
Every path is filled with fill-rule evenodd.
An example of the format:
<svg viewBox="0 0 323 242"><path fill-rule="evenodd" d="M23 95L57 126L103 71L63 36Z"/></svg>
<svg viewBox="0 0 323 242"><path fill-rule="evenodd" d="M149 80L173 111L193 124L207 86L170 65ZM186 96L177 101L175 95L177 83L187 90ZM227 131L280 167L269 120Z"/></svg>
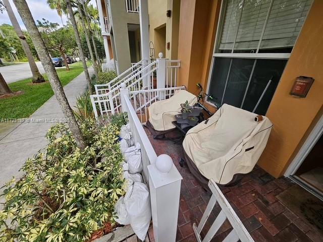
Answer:
<svg viewBox="0 0 323 242"><path fill-rule="evenodd" d="M183 179L169 155L148 165L153 235L156 242L175 242Z"/></svg>

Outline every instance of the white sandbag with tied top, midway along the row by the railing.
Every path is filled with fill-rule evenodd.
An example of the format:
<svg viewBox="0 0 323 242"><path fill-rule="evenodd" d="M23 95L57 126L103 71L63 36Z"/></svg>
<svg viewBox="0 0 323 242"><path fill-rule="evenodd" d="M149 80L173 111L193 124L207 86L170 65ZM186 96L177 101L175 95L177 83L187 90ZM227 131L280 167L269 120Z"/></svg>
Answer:
<svg viewBox="0 0 323 242"><path fill-rule="evenodd" d="M128 164L129 173L134 174L142 171L141 150L139 143L137 143L135 147L129 147L124 153L124 156Z"/></svg>

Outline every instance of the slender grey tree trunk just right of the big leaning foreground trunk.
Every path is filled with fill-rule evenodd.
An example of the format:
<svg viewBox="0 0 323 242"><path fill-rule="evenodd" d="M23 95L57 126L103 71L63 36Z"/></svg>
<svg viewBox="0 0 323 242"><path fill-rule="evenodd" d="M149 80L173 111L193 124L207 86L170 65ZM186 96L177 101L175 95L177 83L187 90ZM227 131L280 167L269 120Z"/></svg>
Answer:
<svg viewBox="0 0 323 242"><path fill-rule="evenodd" d="M82 44L81 44L81 38L80 38L79 31L77 29L77 24L76 24L76 21L75 21L73 9L72 9L70 0L65 0L65 2L66 2L66 5L67 5L69 15L70 15L70 21L71 21L73 29L74 29L77 47L79 48L79 55L80 55L80 59L81 59L82 64L83 64L85 78L86 78L87 85L88 85L88 90L89 90L90 94L92 94L91 79L90 79L90 76L89 76L89 72L87 70L86 61L85 61L85 57L84 57L84 52L83 52L83 48L82 48Z"/></svg>

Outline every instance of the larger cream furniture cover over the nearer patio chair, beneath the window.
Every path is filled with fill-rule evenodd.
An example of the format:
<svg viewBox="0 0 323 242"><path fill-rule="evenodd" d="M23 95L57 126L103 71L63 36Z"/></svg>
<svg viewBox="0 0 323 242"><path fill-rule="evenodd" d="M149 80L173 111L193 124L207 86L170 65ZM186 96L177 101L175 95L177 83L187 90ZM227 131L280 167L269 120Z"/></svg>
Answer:
<svg viewBox="0 0 323 242"><path fill-rule="evenodd" d="M224 104L205 121L190 129L183 141L186 154L200 173L218 184L234 174L248 173L266 146L273 124L263 116Z"/></svg>

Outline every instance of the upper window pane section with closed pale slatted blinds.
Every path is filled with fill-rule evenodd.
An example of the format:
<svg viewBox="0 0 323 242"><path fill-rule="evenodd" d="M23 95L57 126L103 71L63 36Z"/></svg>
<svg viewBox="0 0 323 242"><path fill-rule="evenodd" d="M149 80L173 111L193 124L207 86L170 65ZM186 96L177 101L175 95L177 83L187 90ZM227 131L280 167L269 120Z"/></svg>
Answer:
<svg viewBox="0 0 323 242"><path fill-rule="evenodd" d="M311 3L312 0L224 1L217 52L256 53L276 48L290 52Z"/></svg>

